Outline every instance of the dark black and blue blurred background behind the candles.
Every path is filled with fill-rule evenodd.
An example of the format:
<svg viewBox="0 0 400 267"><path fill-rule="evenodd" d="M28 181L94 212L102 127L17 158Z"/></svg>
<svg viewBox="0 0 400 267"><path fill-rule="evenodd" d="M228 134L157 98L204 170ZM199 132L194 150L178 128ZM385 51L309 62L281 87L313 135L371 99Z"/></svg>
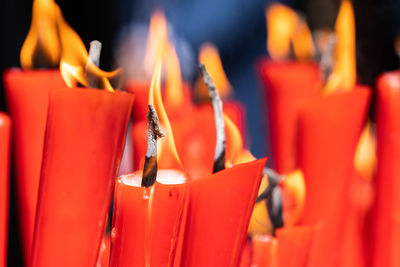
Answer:
<svg viewBox="0 0 400 267"><path fill-rule="evenodd" d="M205 42L217 45L235 98L247 107L247 144L256 157L269 155L268 123L265 121L263 90L255 63L267 55L264 8L268 0L64 0L56 1L66 20L86 45L103 43L101 67L115 66L120 34L132 23L148 23L151 10L163 9L174 34L184 40L194 58ZM303 12L312 30L333 29L340 1L287 0L283 3ZM377 75L398 68L393 49L400 27L400 0L354 0L358 79L374 86ZM18 67L19 51L29 30L32 0L0 2L0 71ZM195 68L193 62L192 68ZM188 77L190 79L190 77ZM6 110L0 82L0 110ZM21 266L19 236L11 181L9 266Z"/></svg>

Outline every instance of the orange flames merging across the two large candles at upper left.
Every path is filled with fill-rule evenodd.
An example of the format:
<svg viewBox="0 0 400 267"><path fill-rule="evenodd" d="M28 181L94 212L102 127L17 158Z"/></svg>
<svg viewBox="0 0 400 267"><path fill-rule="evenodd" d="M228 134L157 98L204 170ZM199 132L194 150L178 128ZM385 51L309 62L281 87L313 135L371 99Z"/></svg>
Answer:
<svg viewBox="0 0 400 267"><path fill-rule="evenodd" d="M68 87L77 82L88 86L85 67L97 77L100 87L113 91L111 78L120 70L105 72L89 60L85 45L78 34L63 18L59 6L52 0L35 0L32 24L21 49L21 65L33 67L33 58L38 49L43 50L52 65L60 64L61 75Z"/></svg>

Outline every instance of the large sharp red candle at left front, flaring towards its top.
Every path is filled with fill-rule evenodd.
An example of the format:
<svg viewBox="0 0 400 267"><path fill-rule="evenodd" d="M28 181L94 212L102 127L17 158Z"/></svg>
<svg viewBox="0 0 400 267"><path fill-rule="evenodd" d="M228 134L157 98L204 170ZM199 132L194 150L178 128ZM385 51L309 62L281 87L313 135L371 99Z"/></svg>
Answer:
<svg viewBox="0 0 400 267"><path fill-rule="evenodd" d="M95 266L133 95L50 94L32 266Z"/></svg>

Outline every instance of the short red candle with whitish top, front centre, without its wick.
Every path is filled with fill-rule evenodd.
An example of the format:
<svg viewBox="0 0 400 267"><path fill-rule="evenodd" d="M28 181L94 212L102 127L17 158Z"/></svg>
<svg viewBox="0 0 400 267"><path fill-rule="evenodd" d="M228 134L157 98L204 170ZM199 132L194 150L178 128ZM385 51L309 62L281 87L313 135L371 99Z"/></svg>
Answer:
<svg viewBox="0 0 400 267"><path fill-rule="evenodd" d="M141 172L122 176L115 187L111 267L172 266L185 201L186 178L159 170L151 188Z"/></svg>

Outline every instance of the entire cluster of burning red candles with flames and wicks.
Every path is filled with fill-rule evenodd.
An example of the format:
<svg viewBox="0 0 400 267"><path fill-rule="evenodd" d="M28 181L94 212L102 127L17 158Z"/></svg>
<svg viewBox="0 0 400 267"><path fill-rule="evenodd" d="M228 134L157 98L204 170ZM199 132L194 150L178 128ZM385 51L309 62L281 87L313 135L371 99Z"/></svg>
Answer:
<svg viewBox="0 0 400 267"><path fill-rule="evenodd" d="M372 89L356 84L351 2L324 46L290 8L266 17L271 58L256 66L272 169L245 148L245 110L214 46L192 93L155 12L138 66L151 82L123 91L120 69L99 68L101 43L87 53L57 4L35 0L24 70L3 77L0 266L11 155L26 266L398 266L400 73L377 81L375 126ZM124 149L133 172L117 178Z"/></svg>

